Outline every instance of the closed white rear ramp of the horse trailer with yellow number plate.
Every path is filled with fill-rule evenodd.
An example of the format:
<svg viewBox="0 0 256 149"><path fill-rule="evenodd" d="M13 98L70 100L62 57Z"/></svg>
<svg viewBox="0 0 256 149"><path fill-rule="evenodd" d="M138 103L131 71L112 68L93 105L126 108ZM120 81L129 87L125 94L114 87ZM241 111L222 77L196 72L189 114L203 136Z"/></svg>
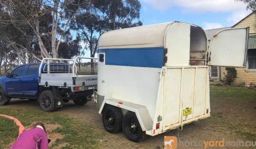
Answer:
<svg viewBox="0 0 256 149"><path fill-rule="evenodd" d="M210 116L208 67L167 67L163 76L163 131Z"/></svg>

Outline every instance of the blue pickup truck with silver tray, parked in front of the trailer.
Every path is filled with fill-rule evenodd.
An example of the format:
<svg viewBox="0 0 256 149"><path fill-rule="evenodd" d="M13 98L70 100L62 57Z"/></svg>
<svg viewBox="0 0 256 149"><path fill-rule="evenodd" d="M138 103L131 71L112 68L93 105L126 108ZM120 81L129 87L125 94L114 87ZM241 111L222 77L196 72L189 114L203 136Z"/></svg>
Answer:
<svg viewBox="0 0 256 149"><path fill-rule="evenodd" d="M67 64L49 64L49 67L48 64L42 62L20 65L5 76L1 76L0 106L8 104L12 98L38 100L43 111L51 112L70 100L83 105L91 99L93 90L97 89L97 76L90 75L90 78L96 79L86 79L88 76L79 77ZM65 69L67 66L68 70ZM72 73L75 77L71 76ZM69 78L73 80L71 85L68 85ZM81 84L76 80L82 80ZM59 81L59 84L56 84L56 81ZM86 86L88 81L90 87Z"/></svg>

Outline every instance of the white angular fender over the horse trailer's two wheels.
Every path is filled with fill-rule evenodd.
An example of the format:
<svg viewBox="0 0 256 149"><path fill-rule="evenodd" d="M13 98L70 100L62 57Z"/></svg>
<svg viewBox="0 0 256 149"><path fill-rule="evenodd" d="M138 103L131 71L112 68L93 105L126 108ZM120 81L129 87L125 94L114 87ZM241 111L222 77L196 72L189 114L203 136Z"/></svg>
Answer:
<svg viewBox="0 0 256 149"><path fill-rule="evenodd" d="M127 111L134 112L139 120L139 124L141 125L142 131L149 131L153 128L153 120L150 117L147 107L141 106L139 104L128 103L122 100L117 99L108 99L104 100L99 113L101 113L104 104L110 104L115 107L120 107L121 109L125 109Z"/></svg>

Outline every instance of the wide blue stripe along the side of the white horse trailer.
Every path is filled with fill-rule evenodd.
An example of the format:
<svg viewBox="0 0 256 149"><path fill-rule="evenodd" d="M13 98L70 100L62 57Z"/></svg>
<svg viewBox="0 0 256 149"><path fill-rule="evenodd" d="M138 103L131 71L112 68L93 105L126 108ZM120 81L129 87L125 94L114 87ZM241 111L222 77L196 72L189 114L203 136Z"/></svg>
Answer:
<svg viewBox="0 0 256 149"><path fill-rule="evenodd" d="M122 48L99 49L105 53L106 65L131 67L162 68L164 65L164 48Z"/></svg>

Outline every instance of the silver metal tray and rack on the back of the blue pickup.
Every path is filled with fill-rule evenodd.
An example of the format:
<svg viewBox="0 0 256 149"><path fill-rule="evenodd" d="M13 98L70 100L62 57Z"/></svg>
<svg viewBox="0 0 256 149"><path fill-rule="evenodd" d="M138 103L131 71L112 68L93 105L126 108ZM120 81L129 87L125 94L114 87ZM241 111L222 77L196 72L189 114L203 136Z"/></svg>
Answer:
<svg viewBox="0 0 256 149"><path fill-rule="evenodd" d="M97 58L93 57L75 57L75 59L43 59L39 67L39 70L41 70L39 71L39 85L46 87L66 87L71 88L74 92L97 89L97 75L78 74L77 64L82 64L81 59L97 60ZM81 90L75 90L74 87L81 87L79 88Z"/></svg>

